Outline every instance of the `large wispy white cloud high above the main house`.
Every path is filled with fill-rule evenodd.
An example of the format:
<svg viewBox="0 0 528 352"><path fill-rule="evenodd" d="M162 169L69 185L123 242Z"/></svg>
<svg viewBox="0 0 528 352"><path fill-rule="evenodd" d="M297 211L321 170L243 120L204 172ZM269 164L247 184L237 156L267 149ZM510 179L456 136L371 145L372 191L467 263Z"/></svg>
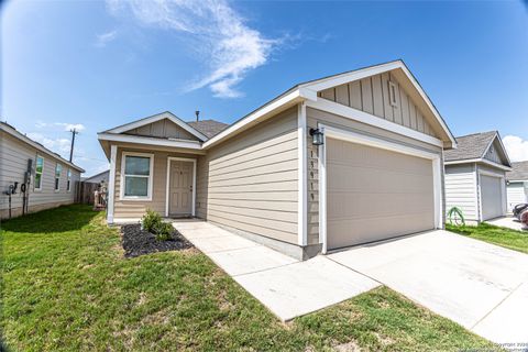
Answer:
<svg viewBox="0 0 528 352"><path fill-rule="evenodd" d="M235 86L267 63L282 40L271 40L246 25L224 0L107 0L111 13L131 11L144 25L173 30L195 41L209 72L190 90L208 86L216 97L242 96Z"/></svg>

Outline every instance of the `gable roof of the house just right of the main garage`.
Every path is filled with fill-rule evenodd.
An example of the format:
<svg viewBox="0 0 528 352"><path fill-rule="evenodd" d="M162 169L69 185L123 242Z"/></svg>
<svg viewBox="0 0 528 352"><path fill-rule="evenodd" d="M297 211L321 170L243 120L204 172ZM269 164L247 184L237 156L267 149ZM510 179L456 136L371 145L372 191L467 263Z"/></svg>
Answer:
<svg viewBox="0 0 528 352"><path fill-rule="evenodd" d="M455 164L460 162L481 162L493 143L497 141L499 153L504 155L504 165L512 166L508 154L504 147L501 135L497 131L480 132L457 138L458 148L444 151L443 161L446 164ZM499 165L499 164L497 164Z"/></svg>

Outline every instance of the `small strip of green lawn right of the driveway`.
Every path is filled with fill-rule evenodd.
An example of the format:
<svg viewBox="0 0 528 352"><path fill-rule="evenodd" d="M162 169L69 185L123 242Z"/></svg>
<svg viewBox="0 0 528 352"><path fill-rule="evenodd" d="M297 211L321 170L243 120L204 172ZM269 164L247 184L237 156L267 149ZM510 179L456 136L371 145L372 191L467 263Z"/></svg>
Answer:
<svg viewBox="0 0 528 352"><path fill-rule="evenodd" d="M446 224L446 230L510 250L528 253L528 232L526 231L494 227L485 222L476 227Z"/></svg>

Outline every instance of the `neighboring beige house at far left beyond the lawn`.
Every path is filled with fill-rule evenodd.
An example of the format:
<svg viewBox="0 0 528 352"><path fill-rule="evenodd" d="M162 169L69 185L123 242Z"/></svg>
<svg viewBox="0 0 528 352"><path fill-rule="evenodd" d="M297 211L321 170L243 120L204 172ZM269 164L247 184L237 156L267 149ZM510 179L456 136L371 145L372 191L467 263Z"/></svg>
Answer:
<svg viewBox="0 0 528 352"><path fill-rule="evenodd" d="M6 191L10 185L18 183L16 193L11 196L11 215L16 217L73 204L81 173L84 169L79 166L0 122L0 219L9 218ZM29 182L26 186L22 186L24 180ZM26 188L25 197L23 187Z"/></svg>

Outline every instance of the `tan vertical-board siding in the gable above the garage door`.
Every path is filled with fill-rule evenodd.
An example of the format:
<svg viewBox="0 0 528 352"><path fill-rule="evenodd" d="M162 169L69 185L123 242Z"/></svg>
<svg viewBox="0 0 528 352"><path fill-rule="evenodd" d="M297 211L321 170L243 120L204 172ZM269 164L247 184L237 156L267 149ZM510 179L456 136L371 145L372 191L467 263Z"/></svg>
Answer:
<svg viewBox="0 0 528 352"><path fill-rule="evenodd" d="M389 103L388 81L396 86L396 107ZM328 88L319 96L413 130L438 136L425 118L422 110L418 108L417 101L406 91L394 72ZM432 117L430 118L432 119Z"/></svg>

